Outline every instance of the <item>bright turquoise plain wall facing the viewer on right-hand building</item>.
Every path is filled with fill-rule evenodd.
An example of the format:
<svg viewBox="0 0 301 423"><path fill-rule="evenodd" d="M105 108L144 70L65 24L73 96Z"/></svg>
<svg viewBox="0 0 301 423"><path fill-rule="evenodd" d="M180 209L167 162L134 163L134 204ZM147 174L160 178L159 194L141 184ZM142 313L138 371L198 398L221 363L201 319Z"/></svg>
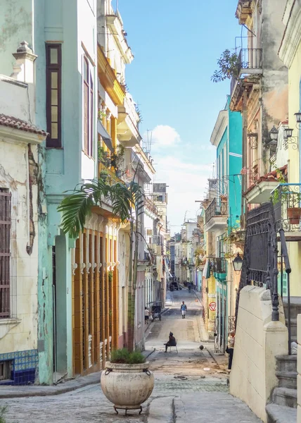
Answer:
<svg viewBox="0 0 301 423"><path fill-rule="evenodd" d="M243 148L243 121L241 112L229 109L228 96L228 142L229 142L229 222L228 226L235 228L240 225L241 219L241 168Z"/></svg>

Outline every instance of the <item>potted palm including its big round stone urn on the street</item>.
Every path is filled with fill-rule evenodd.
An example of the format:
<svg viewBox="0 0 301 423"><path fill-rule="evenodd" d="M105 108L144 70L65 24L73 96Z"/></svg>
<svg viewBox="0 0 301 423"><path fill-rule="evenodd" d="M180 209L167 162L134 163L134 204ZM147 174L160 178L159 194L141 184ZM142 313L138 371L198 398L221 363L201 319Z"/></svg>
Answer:
<svg viewBox="0 0 301 423"><path fill-rule="evenodd" d="M134 178L135 176L136 173ZM84 224L87 216L91 214L92 207L95 205L101 207L103 198L110 200L112 212L120 219L120 223L129 225L129 270L127 272L127 344L129 353L134 351L136 283L139 236L141 235L139 233L139 216L143 213L144 206L143 190L138 183L134 182L134 178L127 185L123 183L109 185L102 178L83 183L65 197L58 207L58 211L63 214L61 228L64 233L69 233L71 238L77 238L79 233L84 231ZM118 354L117 357L120 357ZM105 372L101 375L101 386L104 386L105 396L115 404L115 410L118 407L125 410L137 407L141 409L141 403L153 391L153 376L148 370L148 362L141 362L141 358L137 358L141 355L137 352L134 355L125 355L124 362L115 364L107 362L105 364ZM113 360L114 357L113 355ZM109 378L108 382L106 382L106 378ZM118 389L116 380L118 380L118 384L120 383ZM132 393L129 394L129 392Z"/></svg>

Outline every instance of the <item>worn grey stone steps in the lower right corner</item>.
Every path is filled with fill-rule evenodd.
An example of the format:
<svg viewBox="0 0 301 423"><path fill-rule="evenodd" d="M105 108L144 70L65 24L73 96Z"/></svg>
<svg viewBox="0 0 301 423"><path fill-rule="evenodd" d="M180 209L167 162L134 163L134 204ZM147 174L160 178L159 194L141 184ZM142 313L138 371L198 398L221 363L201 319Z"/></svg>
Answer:
<svg viewBox="0 0 301 423"><path fill-rule="evenodd" d="M288 304L283 298L286 325L288 324ZM290 328L292 342L297 342L297 314L301 314L301 298L290 298ZM278 386L272 393L272 403L266 407L268 423L297 422L297 355L276 357Z"/></svg>

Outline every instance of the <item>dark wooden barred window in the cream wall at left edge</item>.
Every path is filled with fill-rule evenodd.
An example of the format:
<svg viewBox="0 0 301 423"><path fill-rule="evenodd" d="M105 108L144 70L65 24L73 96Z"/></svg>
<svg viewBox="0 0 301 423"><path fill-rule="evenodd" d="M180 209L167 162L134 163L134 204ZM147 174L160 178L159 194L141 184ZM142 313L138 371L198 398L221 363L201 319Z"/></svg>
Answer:
<svg viewBox="0 0 301 423"><path fill-rule="evenodd" d="M0 188L0 319L11 312L11 193Z"/></svg>

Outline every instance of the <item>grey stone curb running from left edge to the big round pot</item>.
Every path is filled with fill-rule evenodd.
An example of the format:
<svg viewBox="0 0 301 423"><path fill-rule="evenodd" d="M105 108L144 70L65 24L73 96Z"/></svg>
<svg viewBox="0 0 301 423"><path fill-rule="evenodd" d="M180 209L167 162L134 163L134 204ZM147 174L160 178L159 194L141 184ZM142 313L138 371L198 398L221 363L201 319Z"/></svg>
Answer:
<svg viewBox="0 0 301 423"><path fill-rule="evenodd" d="M153 353L153 352L152 352ZM86 377L86 376L84 376ZM87 379L83 380L84 377L78 377L77 379L72 379L70 382L65 382L65 384L62 385L49 385L45 386L45 389L39 388L37 391L21 391L21 392L13 392L13 388L16 388L15 386L11 386L9 388L9 392L7 393L1 393L1 390L4 391L4 386L0 388L0 398L25 398L25 397L33 397L33 396L54 396L54 395L60 395L61 393L67 393L76 391L77 389L84 388L89 385L96 385L99 384L101 381L101 372L96 372L89 375ZM64 386L65 385L65 386ZM69 385L69 386L66 386ZM37 386L37 385L36 385ZM8 386L5 386L7 388ZM37 386L38 387L38 386ZM18 387L19 388L19 387ZM20 388L26 388L26 386L20 386ZM28 386L27 386L28 388Z"/></svg>

